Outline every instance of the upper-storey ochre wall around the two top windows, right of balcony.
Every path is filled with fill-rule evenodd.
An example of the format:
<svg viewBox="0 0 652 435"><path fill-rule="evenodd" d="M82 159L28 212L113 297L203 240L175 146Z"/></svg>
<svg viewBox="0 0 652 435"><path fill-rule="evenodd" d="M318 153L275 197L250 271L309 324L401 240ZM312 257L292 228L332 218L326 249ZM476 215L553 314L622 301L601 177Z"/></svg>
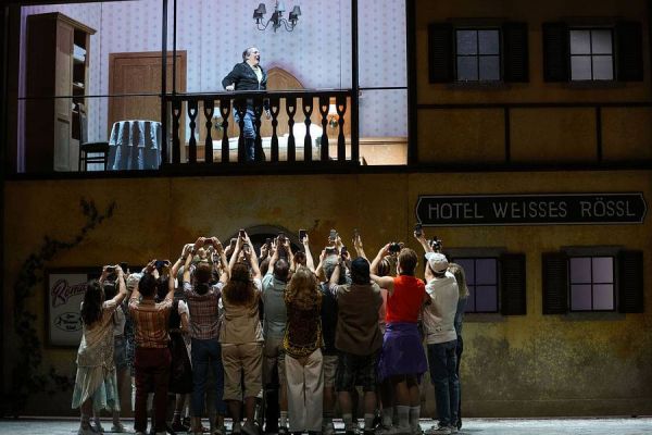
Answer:
<svg viewBox="0 0 652 435"><path fill-rule="evenodd" d="M417 104L634 102L650 99L649 11L643 0L417 0L415 11ZM600 25L618 20L642 24L642 82L597 85L543 82L542 23L563 21ZM528 83L482 86L428 82L428 24L451 22L481 26L500 25L503 21L528 25ZM502 109L419 109L417 112L421 163L504 161ZM652 153L649 115L649 109L603 109L604 160L649 158ZM597 161L593 108L517 109L512 111L510 122L514 163ZM451 148L455 153L446 152Z"/></svg>

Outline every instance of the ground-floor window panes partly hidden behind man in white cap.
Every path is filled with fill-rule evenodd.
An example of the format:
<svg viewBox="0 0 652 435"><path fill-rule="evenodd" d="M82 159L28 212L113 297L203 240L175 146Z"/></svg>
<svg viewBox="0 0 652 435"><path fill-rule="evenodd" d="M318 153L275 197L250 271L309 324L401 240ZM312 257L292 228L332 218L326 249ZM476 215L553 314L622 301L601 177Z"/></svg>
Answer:
<svg viewBox="0 0 652 435"><path fill-rule="evenodd" d="M468 299L465 312L498 312L498 259L459 258L454 260L464 268Z"/></svg>

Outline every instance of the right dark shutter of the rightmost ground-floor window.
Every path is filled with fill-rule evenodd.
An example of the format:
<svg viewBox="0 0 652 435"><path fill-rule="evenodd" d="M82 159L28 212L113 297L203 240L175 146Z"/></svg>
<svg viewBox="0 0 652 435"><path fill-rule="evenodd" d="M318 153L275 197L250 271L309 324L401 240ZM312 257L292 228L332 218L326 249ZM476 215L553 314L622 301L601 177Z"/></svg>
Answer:
<svg viewBox="0 0 652 435"><path fill-rule="evenodd" d="M643 312L643 252L618 253L618 312Z"/></svg>

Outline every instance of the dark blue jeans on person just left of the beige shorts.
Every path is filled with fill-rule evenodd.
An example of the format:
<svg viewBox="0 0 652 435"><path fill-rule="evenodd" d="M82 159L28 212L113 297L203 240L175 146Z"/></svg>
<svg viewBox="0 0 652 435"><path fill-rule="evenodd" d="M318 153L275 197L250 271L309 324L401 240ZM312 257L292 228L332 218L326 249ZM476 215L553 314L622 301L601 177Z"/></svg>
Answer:
<svg viewBox="0 0 652 435"><path fill-rule="evenodd" d="M192 338L192 415L202 417L209 365L213 370L215 382L215 408L217 414L226 414L224 397L224 370L222 366L222 347L217 339Z"/></svg>

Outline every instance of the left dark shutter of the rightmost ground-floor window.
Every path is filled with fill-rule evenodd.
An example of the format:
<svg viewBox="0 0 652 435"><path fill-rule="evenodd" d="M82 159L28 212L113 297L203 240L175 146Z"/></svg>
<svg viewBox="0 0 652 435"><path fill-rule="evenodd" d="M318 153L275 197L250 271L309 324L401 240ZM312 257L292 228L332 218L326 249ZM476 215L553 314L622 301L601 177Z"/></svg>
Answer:
<svg viewBox="0 0 652 435"><path fill-rule="evenodd" d="M568 311L568 258L563 252L543 253L543 314Z"/></svg>

